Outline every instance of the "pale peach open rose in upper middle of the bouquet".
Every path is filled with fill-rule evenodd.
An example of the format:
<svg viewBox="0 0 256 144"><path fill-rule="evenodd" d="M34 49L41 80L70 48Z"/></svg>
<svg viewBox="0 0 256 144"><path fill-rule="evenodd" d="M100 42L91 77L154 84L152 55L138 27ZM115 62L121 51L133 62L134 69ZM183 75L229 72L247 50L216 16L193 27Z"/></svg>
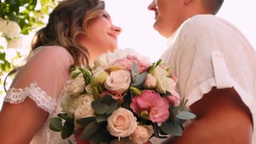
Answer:
<svg viewBox="0 0 256 144"><path fill-rule="evenodd" d="M117 70L110 73L105 82L108 91L123 93L130 87L131 73L127 70Z"/></svg>

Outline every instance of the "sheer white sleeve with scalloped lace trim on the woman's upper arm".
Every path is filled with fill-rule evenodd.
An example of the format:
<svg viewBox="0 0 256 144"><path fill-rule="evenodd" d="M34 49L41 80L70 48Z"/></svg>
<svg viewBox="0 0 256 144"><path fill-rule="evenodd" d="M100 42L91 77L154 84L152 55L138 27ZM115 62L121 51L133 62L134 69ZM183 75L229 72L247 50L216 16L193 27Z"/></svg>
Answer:
<svg viewBox="0 0 256 144"><path fill-rule="evenodd" d="M64 48L38 48L17 73L4 101L20 104L30 98L38 107L51 114L69 77L68 69L72 62Z"/></svg>

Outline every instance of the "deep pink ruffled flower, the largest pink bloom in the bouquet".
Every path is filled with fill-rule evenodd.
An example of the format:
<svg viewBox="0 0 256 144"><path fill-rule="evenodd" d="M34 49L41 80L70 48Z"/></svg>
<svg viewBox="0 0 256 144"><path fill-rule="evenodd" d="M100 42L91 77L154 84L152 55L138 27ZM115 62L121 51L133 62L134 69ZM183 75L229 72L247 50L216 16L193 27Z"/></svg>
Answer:
<svg viewBox="0 0 256 144"><path fill-rule="evenodd" d="M154 90L144 90L140 96L135 96L132 99L131 108L137 115L147 109L149 111L148 119L153 123L157 122L159 126L169 117L168 102Z"/></svg>

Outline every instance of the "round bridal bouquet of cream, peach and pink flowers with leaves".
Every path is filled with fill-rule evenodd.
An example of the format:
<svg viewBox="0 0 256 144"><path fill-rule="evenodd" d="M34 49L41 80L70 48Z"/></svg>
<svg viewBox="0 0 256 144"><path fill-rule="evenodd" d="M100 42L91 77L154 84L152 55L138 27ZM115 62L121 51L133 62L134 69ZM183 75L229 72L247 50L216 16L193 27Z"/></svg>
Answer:
<svg viewBox="0 0 256 144"><path fill-rule="evenodd" d="M64 113L50 120L62 139L77 144L129 138L144 144L152 136L181 136L182 124L195 118L175 91L177 78L159 60L117 50L101 55L94 67L72 69L73 82L61 98ZM65 120L64 124L62 120Z"/></svg>

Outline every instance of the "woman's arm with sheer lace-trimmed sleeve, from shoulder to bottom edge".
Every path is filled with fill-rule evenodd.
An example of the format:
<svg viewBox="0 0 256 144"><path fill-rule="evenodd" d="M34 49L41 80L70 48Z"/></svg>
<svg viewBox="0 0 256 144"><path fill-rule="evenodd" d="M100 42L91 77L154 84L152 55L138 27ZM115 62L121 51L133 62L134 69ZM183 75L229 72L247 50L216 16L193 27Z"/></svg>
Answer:
<svg viewBox="0 0 256 144"><path fill-rule="evenodd" d="M13 80L0 111L0 141L29 144L54 111L72 62L64 48L47 47L29 59Z"/></svg>

